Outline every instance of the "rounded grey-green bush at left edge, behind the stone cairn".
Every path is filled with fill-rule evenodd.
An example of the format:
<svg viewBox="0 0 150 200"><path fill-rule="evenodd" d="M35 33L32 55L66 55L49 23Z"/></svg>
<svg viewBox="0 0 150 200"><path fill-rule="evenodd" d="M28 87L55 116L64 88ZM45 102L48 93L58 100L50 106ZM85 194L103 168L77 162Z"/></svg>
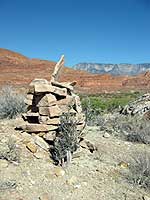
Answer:
<svg viewBox="0 0 150 200"><path fill-rule="evenodd" d="M0 119L15 118L25 112L24 96L17 94L11 86L5 86L0 91Z"/></svg>

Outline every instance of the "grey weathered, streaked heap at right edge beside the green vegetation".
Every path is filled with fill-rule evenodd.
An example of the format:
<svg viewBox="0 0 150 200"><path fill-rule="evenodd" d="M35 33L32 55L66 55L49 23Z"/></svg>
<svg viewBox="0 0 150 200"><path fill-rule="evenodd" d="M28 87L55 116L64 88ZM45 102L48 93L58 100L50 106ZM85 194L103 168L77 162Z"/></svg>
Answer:
<svg viewBox="0 0 150 200"><path fill-rule="evenodd" d="M150 94L144 94L132 103L126 105L121 114L124 115L146 115L150 112Z"/></svg>

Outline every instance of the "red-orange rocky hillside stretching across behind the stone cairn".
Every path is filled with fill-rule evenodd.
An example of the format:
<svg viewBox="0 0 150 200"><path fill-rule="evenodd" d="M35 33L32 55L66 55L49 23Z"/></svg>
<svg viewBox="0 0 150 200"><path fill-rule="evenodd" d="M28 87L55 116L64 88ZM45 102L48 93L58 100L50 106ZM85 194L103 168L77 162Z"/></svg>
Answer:
<svg viewBox="0 0 150 200"><path fill-rule="evenodd" d="M55 62L29 59L21 54L0 49L0 86L11 84L27 87L34 78L50 80ZM86 71L64 67L60 81L77 81L76 90L81 93L102 93L130 90L149 90L149 72L128 77L109 74L90 74Z"/></svg>

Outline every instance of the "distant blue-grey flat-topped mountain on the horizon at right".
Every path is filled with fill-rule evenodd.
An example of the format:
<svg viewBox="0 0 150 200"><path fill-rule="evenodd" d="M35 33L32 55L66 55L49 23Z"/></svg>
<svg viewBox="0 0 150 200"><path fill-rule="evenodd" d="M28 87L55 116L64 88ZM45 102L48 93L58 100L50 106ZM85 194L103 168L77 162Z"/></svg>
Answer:
<svg viewBox="0 0 150 200"><path fill-rule="evenodd" d="M98 64L98 63L79 63L72 67L77 70L85 70L93 74L111 74L134 76L146 71L150 71L150 63L142 64Z"/></svg>

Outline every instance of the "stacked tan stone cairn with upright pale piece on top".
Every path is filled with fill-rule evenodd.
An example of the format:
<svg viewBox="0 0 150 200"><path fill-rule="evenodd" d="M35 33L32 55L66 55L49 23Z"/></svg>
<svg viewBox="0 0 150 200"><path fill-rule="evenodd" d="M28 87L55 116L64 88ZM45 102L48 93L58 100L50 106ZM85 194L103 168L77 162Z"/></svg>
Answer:
<svg viewBox="0 0 150 200"><path fill-rule="evenodd" d="M64 56L56 64L51 81L35 79L29 85L26 104L27 113L23 115L26 121L25 131L34 133L48 144L57 137L61 116L70 113L75 118L77 131L82 132L85 126L85 116L79 96L73 92L75 82L58 82L58 76L64 65Z"/></svg>

